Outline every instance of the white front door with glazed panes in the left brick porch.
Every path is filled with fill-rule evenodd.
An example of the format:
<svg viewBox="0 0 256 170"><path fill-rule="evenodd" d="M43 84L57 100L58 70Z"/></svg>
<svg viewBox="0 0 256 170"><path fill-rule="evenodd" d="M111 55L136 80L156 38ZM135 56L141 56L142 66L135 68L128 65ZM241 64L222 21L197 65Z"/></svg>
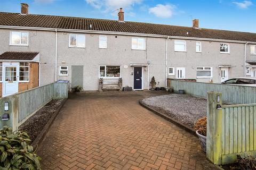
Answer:
<svg viewBox="0 0 256 170"><path fill-rule="evenodd" d="M19 64L3 63L3 97L18 92Z"/></svg>

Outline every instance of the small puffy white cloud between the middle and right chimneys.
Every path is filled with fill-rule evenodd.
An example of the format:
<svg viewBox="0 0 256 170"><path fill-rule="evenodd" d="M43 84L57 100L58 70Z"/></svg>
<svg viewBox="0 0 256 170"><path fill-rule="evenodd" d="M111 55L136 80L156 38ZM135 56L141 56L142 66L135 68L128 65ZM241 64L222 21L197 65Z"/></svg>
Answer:
<svg viewBox="0 0 256 170"><path fill-rule="evenodd" d="M155 14L159 18L170 18L175 14L176 6L172 4L157 4L155 7L149 8L149 13Z"/></svg>

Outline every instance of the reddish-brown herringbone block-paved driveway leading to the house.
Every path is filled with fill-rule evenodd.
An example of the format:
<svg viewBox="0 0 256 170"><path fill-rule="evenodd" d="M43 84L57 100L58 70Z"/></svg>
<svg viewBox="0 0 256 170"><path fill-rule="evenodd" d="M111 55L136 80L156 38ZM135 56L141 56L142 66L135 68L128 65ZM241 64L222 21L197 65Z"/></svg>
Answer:
<svg viewBox="0 0 256 170"><path fill-rule="evenodd" d="M70 95L38 148L43 169L217 169L194 135L139 105L163 94Z"/></svg>

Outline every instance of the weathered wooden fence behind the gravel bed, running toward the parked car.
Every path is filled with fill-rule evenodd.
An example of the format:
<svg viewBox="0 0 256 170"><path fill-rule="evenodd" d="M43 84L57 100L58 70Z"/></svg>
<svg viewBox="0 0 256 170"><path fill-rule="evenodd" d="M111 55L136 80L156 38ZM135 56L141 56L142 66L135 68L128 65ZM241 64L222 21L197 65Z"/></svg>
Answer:
<svg viewBox="0 0 256 170"><path fill-rule="evenodd" d="M171 88L204 98L207 97L207 92L218 91L222 93L222 100L228 103L256 103L256 87L171 80Z"/></svg>

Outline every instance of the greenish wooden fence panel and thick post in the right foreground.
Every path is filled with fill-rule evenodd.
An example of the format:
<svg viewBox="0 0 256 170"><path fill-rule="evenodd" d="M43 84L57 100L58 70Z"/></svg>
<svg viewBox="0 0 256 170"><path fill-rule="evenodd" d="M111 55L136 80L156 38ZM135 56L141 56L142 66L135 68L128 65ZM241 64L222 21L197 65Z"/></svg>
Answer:
<svg viewBox="0 0 256 170"><path fill-rule="evenodd" d="M237 155L255 157L256 103L220 107L221 96L219 92L207 95L207 158L223 165L234 163Z"/></svg>

